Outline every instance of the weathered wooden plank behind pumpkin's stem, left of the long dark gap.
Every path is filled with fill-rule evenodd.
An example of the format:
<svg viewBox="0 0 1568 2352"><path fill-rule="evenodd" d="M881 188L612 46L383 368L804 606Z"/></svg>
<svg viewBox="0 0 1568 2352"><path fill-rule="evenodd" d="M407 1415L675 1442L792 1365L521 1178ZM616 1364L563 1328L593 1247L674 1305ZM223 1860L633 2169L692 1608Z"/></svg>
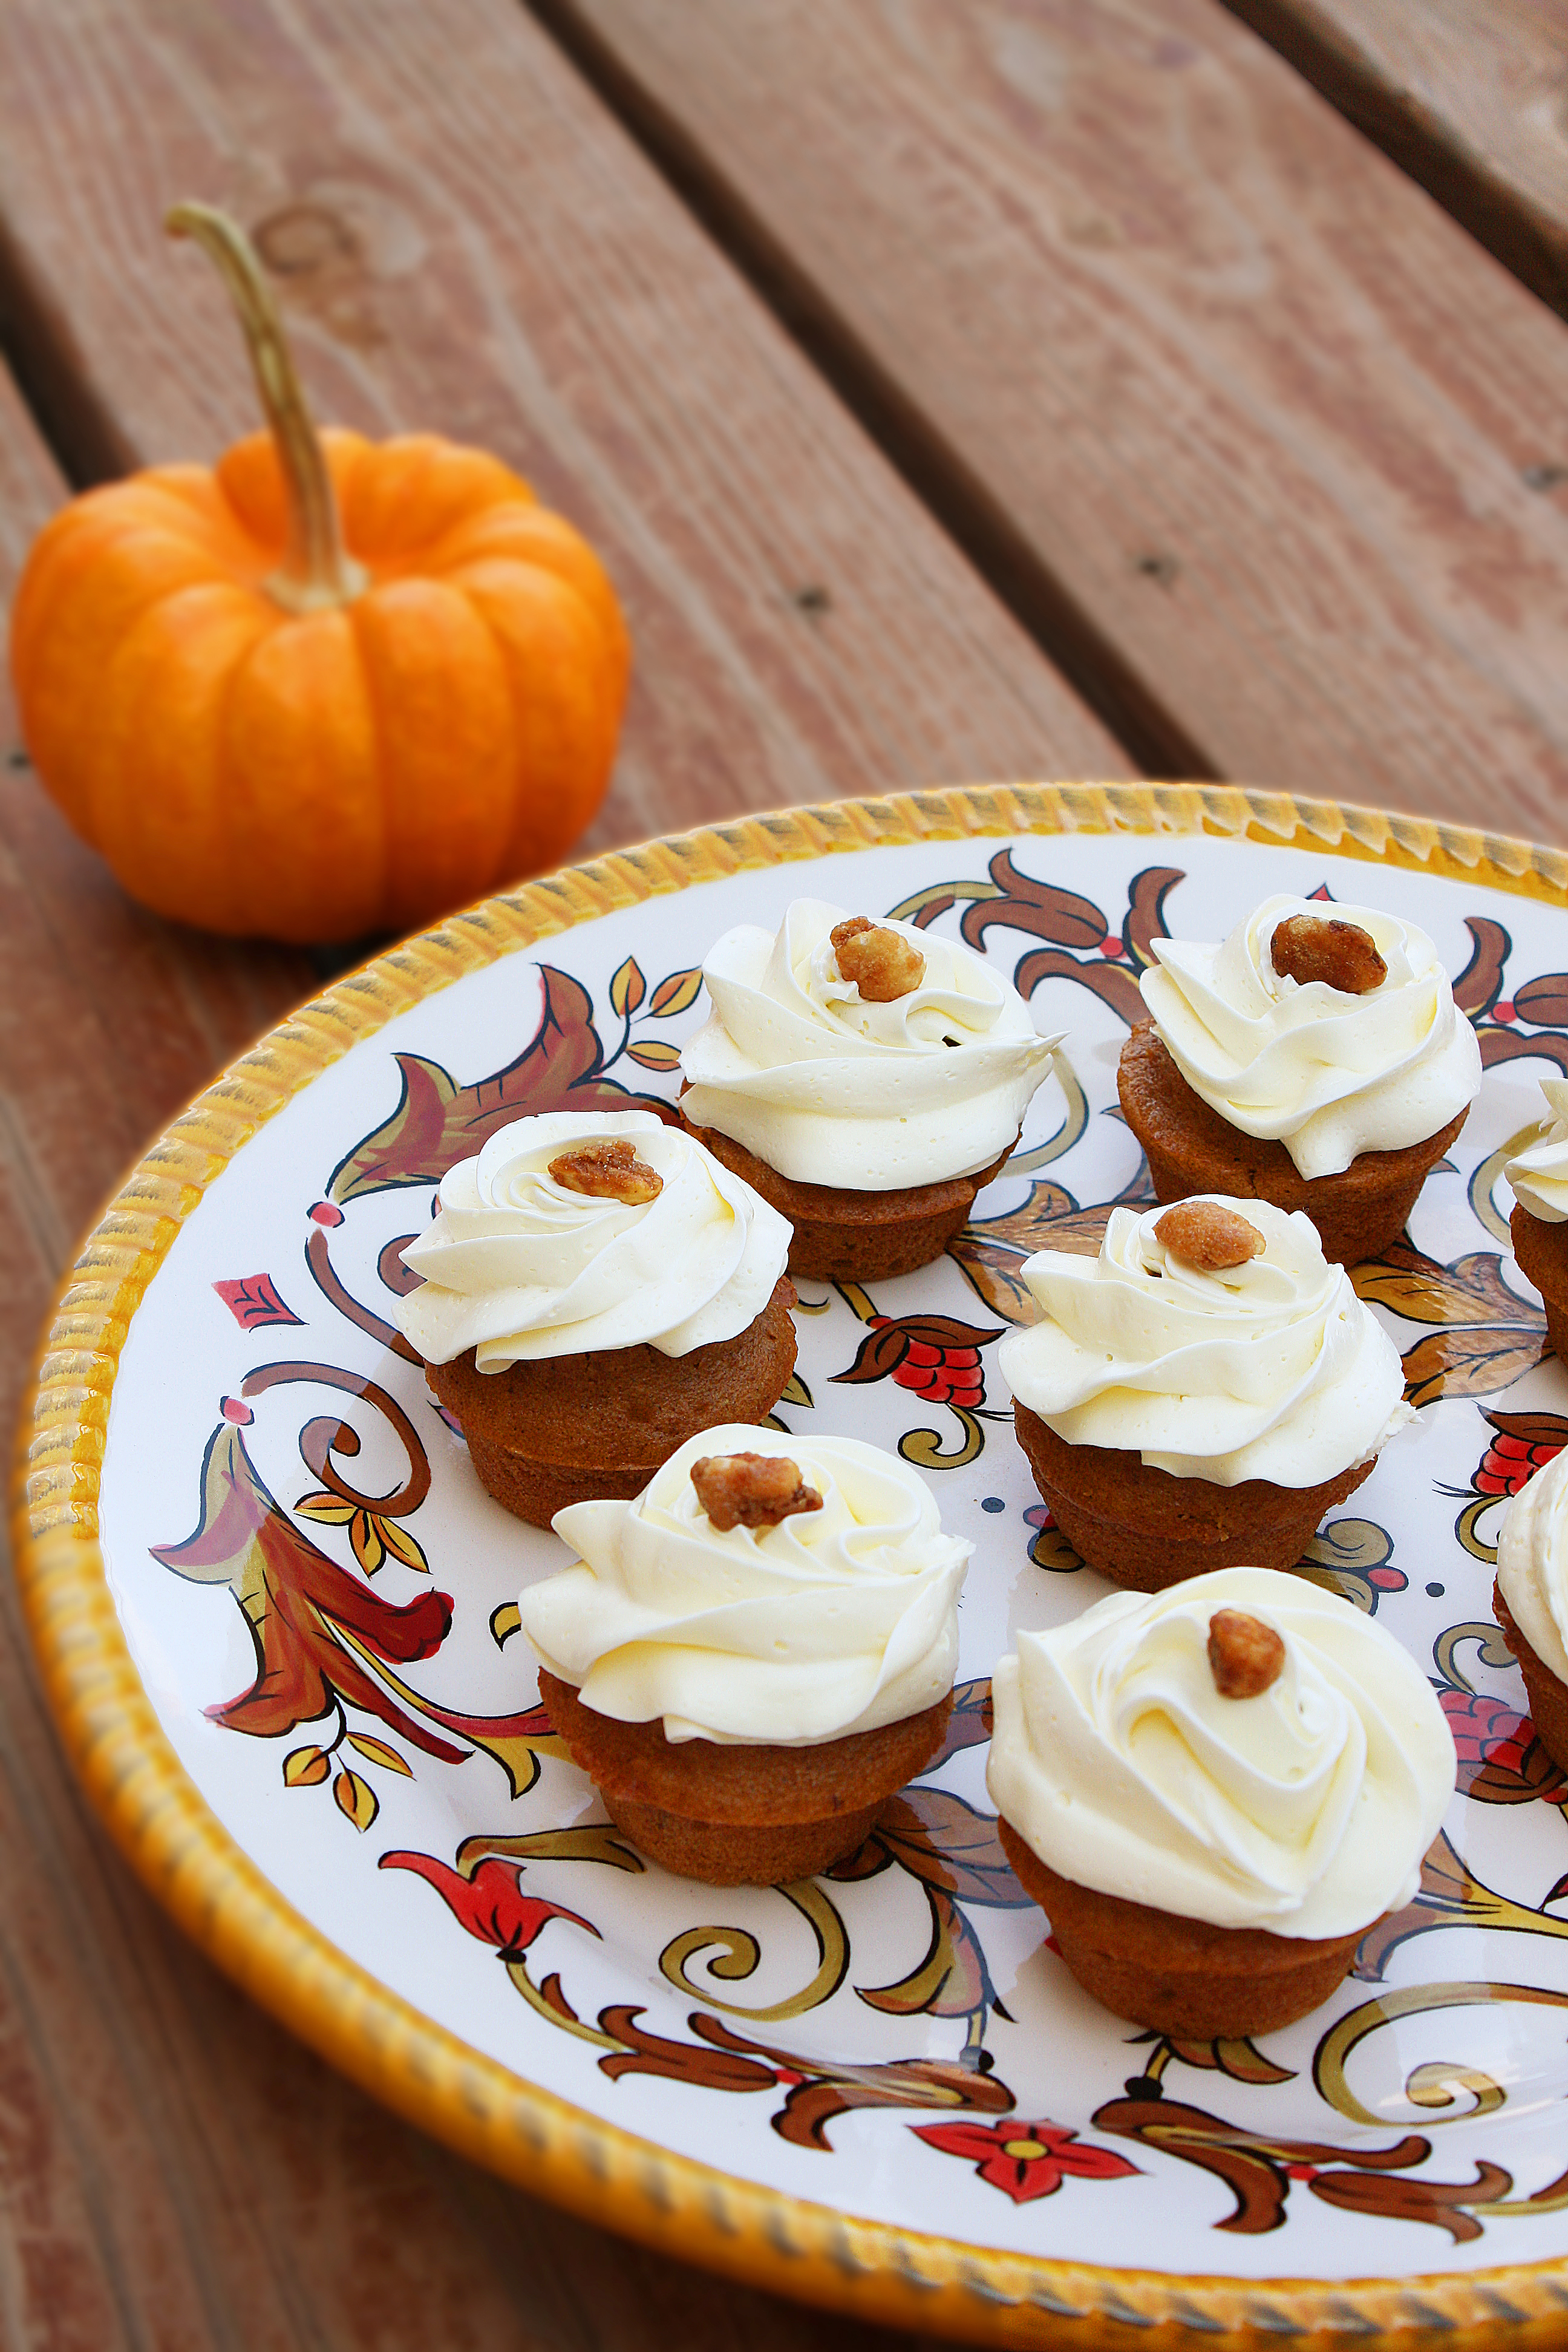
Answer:
<svg viewBox="0 0 1568 2352"><path fill-rule="evenodd" d="M16 0L0 216L31 383L87 473L254 423L216 280L247 221L317 414L496 449L637 642L588 847L1128 755L512 0Z"/></svg>

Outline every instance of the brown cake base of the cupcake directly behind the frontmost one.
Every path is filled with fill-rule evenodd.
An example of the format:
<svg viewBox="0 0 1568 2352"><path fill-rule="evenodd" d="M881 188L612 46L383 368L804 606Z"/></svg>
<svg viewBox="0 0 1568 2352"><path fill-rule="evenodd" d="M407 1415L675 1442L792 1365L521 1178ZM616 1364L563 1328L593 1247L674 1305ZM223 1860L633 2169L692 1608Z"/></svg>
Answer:
<svg viewBox="0 0 1568 2352"><path fill-rule="evenodd" d="M1133 1592L1164 1592L1208 1569L1293 1569L1324 1512L1354 1494L1375 1463L1352 1463L1321 1486L1258 1477L1215 1486L1152 1470L1124 1446L1070 1446L1027 1404L1013 1404L1013 1428L1067 1543Z"/></svg>

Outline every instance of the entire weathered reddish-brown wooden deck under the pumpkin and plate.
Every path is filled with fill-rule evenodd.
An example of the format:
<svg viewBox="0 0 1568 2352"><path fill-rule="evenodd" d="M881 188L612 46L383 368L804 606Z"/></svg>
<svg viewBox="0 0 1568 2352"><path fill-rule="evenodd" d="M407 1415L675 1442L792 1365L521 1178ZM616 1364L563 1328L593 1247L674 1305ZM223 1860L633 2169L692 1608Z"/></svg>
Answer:
<svg viewBox="0 0 1568 2352"><path fill-rule="evenodd" d="M68 480L252 426L160 233L202 195L320 414L477 440L604 550L588 847L1150 769L1563 842L1566 64L1561 0L9 0L0 602ZM0 974L9 1425L115 1176L315 967L132 908L0 706ZM339 2082L108 1849L9 1578L0 1637L5 2352L896 2345Z"/></svg>

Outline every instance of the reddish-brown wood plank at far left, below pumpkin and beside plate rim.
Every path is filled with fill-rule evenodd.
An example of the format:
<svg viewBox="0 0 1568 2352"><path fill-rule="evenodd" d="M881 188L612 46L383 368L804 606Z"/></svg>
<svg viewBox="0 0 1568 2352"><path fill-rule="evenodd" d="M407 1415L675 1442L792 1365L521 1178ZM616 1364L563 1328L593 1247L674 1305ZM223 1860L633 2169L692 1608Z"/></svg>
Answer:
<svg viewBox="0 0 1568 2352"><path fill-rule="evenodd" d="M0 623L63 485L0 369ZM80 1228L310 990L303 957L132 908L0 687L0 1428ZM5 1538L0 1534L0 1550ZM252 2009L85 1806L0 1559L5 2352L898 2352L475 2173ZM907 2338L903 2343L910 2343Z"/></svg>

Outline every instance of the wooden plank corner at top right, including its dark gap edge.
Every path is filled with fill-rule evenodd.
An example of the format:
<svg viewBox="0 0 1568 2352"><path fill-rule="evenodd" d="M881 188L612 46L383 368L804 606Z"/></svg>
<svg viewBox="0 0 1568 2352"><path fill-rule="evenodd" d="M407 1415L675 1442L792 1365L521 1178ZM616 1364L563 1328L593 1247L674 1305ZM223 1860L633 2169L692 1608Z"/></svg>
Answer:
<svg viewBox="0 0 1568 2352"><path fill-rule="evenodd" d="M1225 0L1568 318L1563 0Z"/></svg>

